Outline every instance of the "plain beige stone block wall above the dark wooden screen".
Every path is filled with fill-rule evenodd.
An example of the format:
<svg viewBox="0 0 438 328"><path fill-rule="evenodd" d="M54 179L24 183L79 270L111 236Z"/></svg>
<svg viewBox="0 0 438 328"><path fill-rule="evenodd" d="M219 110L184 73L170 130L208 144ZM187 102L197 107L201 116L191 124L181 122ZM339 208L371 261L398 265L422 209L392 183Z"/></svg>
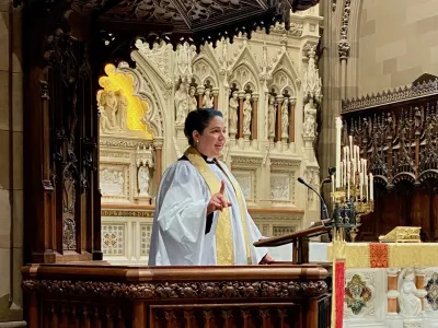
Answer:
<svg viewBox="0 0 438 328"><path fill-rule="evenodd" d="M358 22L358 94L438 75L438 0L362 1Z"/></svg>

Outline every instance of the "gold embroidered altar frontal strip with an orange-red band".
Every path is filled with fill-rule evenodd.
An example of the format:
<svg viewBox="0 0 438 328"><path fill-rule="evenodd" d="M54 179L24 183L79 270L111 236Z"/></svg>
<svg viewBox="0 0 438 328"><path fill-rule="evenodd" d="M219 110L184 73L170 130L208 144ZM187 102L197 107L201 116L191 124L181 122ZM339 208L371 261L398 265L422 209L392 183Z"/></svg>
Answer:
<svg viewBox="0 0 438 328"><path fill-rule="evenodd" d="M332 260L333 245L327 246ZM346 243L346 268L436 267L437 243Z"/></svg>

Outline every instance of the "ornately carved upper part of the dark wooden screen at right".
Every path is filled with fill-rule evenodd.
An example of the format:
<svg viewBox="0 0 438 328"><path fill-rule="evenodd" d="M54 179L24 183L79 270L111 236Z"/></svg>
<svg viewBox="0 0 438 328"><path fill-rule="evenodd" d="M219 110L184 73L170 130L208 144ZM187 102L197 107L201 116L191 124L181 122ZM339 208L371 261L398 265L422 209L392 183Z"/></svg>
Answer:
<svg viewBox="0 0 438 328"><path fill-rule="evenodd" d="M353 136L377 184L391 188L438 178L438 79L347 106L344 144Z"/></svg>

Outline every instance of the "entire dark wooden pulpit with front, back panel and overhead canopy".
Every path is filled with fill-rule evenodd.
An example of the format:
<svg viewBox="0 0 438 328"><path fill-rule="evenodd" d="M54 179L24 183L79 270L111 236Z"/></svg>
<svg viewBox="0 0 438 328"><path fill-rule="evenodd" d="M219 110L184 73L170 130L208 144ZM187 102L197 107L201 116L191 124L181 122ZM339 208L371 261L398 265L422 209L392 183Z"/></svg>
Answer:
<svg viewBox="0 0 438 328"><path fill-rule="evenodd" d="M199 50L223 35L251 36L256 27L288 22L291 9L318 0L215 1L214 9L195 0L193 16L181 1L164 2L127 11L117 0L16 1L24 5L28 327L327 327L321 266L150 268L103 260L96 92L104 66L132 65L136 38L151 47L188 42ZM208 12L208 23L198 12ZM174 20L157 23L168 14Z"/></svg>

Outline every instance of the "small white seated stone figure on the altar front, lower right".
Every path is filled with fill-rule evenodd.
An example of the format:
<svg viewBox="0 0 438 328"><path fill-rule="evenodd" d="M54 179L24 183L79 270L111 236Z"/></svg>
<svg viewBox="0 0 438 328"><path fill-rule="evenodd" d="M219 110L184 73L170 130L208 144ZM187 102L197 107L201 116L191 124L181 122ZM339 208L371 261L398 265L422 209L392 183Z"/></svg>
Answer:
<svg viewBox="0 0 438 328"><path fill-rule="evenodd" d="M415 272L412 268L403 269L399 274L400 314L404 317L417 317L422 314L422 301L415 285Z"/></svg>

